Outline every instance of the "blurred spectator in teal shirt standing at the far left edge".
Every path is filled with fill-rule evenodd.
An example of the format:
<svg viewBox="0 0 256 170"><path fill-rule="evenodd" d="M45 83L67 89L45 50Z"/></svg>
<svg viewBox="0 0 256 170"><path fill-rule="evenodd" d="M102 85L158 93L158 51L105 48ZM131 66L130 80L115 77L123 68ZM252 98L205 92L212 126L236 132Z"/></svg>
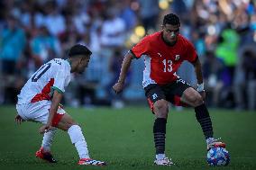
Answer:
<svg viewBox="0 0 256 170"><path fill-rule="evenodd" d="M18 63L23 56L25 48L25 32L20 27L19 21L9 15L6 27L0 32L0 79L3 85L0 90L1 103L14 103L15 80L18 79Z"/></svg>

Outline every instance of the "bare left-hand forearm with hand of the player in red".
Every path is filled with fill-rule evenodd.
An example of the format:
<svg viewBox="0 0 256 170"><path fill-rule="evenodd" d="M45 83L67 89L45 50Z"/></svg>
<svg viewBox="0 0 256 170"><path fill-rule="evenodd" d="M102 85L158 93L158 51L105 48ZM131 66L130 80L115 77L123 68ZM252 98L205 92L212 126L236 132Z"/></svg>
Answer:
<svg viewBox="0 0 256 170"><path fill-rule="evenodd" d="M122 92L125 77L127 75L129 67L131 66L132 60L133 60L133 54L129 51L123 58L119 79L113 86L113 90L115 94L119 94L120 92Z"/></svg>

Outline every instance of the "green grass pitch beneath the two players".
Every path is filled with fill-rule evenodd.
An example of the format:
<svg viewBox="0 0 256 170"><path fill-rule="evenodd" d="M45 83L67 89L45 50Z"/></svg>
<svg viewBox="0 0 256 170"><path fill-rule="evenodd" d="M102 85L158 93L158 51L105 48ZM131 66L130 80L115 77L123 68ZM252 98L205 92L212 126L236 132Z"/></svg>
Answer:
<svg viewBox="0 0 256 170"><path fill-rule="evenodd" d="M206 164L206 143L193 110L170 110L166 153L178 166L154 166L153 115L146 107L74 109L67 112L81 125L91 157L105 167L78 166L78 154L66 132L58 131L52 153L59 161L48 164L34 157L41 146L41 124L14 123L14 106L0 106L0 169L24 170L149 170L149 169L256 169L256 112L210 110L215 136L222 137L231 155L225 167Z"/></svg>

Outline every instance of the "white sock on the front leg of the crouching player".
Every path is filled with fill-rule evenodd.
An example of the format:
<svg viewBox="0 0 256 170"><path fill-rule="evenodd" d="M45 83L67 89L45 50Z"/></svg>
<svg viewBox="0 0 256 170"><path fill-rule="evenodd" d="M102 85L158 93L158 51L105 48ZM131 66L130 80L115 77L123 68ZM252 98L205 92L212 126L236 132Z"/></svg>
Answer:
<svg viewBox="0 0 256 170"><path fill-rule="evenodd" d="M72 144L74 144L78 150L78 155L80 159L89 158L87 141L84 138L81 128L78 125L72 125L69 128L68 133Z"/></svg>

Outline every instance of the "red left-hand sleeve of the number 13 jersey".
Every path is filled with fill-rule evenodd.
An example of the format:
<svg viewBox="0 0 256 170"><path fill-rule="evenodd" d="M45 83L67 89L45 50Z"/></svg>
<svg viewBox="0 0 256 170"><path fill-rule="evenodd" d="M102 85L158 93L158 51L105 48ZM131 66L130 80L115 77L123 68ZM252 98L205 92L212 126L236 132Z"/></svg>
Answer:
<svg viewBox="0 0 256 170"><path fill-rule="evenodd" d="M149 36L146 36L139 43L137 43L130 51L133 54L134 58L141 58L143 54L146 54L148 52L149 46Z"/></svg>

